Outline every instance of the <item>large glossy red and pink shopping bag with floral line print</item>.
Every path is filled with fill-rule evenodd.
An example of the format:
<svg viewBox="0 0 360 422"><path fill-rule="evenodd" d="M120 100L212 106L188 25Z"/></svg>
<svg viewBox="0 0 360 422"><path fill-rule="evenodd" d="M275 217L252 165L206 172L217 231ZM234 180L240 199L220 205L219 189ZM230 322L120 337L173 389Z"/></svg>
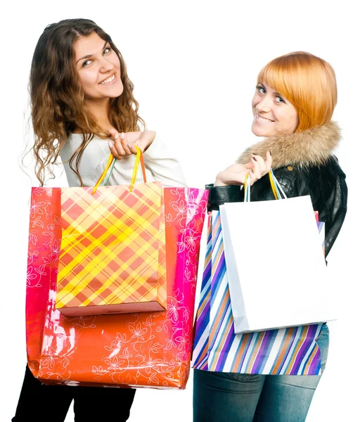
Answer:
<svg viewBox="0 0 360 422"><path fill-rule="evenodd" d="M166 311L65 316L55 305L60 189L32 188L26 335L27 362L39 381L185 388L207 196L203 189L164 189Z"/></svg>

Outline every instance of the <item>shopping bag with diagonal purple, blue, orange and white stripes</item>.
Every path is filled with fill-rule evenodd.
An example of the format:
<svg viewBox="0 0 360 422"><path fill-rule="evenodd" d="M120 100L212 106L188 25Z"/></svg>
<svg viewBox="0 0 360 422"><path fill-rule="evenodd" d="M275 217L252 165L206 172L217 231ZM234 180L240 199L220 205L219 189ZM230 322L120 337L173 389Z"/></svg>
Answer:
<svg viewBox="0 0 360 422"><path fill-rule="evenodd" d="M320 231L320 226L319 226ZM200 304L195 321L193 368L271 375L317 375L322 324L234 334L218 211L209 216Z"/></svg>

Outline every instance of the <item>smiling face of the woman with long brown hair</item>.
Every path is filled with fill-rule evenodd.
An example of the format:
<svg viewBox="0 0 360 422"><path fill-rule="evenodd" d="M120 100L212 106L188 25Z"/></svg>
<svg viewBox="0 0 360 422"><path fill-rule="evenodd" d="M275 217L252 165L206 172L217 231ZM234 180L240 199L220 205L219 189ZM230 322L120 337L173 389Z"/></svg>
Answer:
<svg viewBox="0 0 360 422"><path fill-rule="evenodd" d="M86 101L101 101L122 94L120 60L96 32L75 42L75 61Z"/></svg>

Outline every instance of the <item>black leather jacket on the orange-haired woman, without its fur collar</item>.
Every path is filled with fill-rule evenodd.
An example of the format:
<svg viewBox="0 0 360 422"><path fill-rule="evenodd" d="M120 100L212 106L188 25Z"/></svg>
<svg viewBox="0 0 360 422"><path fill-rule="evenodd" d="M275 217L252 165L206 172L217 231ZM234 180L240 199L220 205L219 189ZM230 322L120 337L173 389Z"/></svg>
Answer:
<svg viewBox="0 0 360 422"><path fill-rule="evenodd" d="M286 196L310 195L319 221L325 223L325 256L337 238L347 212L347 184L345 173L333 155L326 165L302 167L295 165L274 170ZM238 185L207 185L210 190L209 210L219 210L226 202L243 202L244 193ZM251 187L251 200L274 200L269 177L266 175Z"/></svg>

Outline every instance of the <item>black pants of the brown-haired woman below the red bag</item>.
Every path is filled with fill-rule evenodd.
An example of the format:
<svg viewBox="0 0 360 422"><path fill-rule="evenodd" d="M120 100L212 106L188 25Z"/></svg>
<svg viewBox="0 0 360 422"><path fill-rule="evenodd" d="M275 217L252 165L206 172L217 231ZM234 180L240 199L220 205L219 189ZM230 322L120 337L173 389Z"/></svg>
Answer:
<svg viewBox="0 0 360 422"><path fill-rule="evenodd" d="M12 422L63 422L74 399L75 422L125 422L134 388L44 385L26 366L23 388Z"/></svg>

